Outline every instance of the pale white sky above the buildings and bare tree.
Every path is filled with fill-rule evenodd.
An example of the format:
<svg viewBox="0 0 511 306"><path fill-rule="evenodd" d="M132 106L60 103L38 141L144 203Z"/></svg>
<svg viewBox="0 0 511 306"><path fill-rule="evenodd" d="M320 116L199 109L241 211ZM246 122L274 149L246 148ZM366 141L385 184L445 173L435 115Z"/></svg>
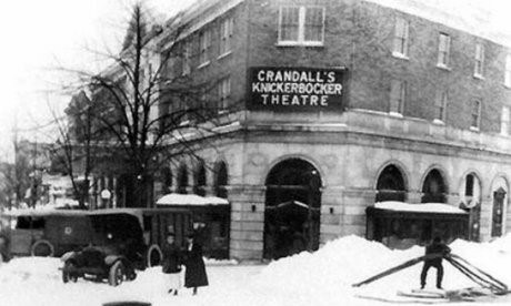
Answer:
<svg viewBox="0 0 511 306"><path fill-rule="evenodd" d="M89 50L111 50L126 32L133 0L11 0L0 11L0 160L9 152L12 129L30 129L51 120L48 105L62 109L68 96L58 95L62 73L100 67ZM271 0L269 0L271 1ZM468 2L494 16L494 27L511 33L509 0L423 0L447 10ZM154 13L171 16L193 0L147 0ZM58 106L57 106L58 105ZM27 132L33 137L41 137Z"/></svg>

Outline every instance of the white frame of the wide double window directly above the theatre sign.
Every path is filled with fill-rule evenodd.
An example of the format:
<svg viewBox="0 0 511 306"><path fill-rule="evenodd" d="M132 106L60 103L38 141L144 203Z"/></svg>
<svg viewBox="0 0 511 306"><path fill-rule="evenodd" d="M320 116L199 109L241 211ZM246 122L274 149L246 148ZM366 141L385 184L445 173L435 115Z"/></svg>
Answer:
<svg viewBox="0 0 511 306"><path fill-rule="evenodd" d="M299 8L298 13L298 38L297 40L282 40L282 11L284 8ZM305 14L308 9L321 9L322 10L322 29L321 40L305 40ZM279 38L278 45L308 45L308 47L322 47L324 43L324 19L325 10L321 6L283 6L279 9Z"/></svg>

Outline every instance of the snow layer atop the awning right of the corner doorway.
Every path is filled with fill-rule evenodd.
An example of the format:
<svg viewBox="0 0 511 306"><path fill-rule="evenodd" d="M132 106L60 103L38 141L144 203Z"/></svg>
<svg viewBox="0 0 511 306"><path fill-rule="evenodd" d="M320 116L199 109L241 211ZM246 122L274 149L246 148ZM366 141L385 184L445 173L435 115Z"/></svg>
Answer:
<svg viewBox="0 0 511 306"><path fill-rule="evenodd" d="M414 213L467 214L463 210L443 203L409 204L404 202L385 201L375 203L374 208Z"/></svg>

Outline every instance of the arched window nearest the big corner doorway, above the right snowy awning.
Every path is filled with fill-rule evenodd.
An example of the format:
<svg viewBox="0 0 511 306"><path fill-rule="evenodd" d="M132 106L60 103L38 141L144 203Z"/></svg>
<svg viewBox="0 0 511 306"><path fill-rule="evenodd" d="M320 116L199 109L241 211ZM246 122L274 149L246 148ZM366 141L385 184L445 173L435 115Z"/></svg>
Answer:
<svg viewBox="0 0 511 306"><path fill-rule="evenodd" d="M378 176L375 202L404 202L407 194L404 178L395 165L388 165Z"/></svg>

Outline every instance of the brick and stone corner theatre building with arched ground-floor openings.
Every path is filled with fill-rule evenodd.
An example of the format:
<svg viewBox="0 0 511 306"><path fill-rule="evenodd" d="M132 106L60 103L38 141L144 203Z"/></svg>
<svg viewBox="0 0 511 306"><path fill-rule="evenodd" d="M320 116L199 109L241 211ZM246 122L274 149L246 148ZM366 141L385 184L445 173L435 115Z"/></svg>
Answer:
<svg viewBox="0 0 511 306"><path fill-rule="evenodd" d="M169 165L161 184L228 198L232 258L379 239L368 207L398 202L459 215L458 230L419 212L384 225L401 236L505 234L511 50L477 13L404 0L199 1L169 21L162 52L166 31L186 24L173 64L192 82L216 82L204 95L221 125L198 139L202 162Z"/></svg>

